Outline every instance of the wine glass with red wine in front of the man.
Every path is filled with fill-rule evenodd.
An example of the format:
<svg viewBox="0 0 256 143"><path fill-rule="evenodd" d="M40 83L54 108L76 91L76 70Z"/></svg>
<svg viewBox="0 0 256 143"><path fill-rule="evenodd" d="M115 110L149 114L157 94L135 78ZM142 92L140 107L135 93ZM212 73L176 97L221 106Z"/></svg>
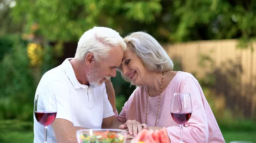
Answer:
<svg viewBox="0 0 256 143"><path fill-rule="evenodd" d="M55 94L43 93L35 97L35 118L44 126L44 143L47 143L47 126L51 125L57 115Z"/></svg>

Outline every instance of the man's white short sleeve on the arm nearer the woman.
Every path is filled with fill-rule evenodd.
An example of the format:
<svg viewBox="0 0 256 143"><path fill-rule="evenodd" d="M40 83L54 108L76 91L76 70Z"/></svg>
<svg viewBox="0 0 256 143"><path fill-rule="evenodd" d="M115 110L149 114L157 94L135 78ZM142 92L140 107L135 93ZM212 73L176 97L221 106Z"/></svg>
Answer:
<svg viewBox="0 0 256 143"><path fill-rule="evenodd" d="M106 91L105 83L102 84L102 94L103 94L103 118L108 118L114 116L113 108L108 101L108 94Z"/></svg>

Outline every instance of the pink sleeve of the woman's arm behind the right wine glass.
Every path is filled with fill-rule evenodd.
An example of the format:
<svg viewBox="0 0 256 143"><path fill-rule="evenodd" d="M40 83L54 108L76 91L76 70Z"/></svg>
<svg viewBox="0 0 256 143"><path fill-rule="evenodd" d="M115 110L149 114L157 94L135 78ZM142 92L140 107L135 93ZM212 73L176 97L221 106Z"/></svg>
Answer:
<svg viewBox="0 0 256 143"><path fill-rule="evenodd" d="M189 121L183 126L184 143L207 143L208 142L208 122L204 110L202 96L204 93L196 79L187 77L180 87L180 93L190 93L192 100L192 115ZM180 141L180 127L169 126L167 132L172 143Z"/></svg>

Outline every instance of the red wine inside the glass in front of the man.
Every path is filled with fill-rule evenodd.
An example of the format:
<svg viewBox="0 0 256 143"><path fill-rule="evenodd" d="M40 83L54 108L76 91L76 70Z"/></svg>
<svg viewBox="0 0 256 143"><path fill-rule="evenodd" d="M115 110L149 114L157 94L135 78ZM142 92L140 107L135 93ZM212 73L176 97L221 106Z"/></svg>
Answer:
<svg viewBox="0 0 256 143"><path fill-rule="evenodd" d="M35 112L35 118L43 126L49 126L55 120L57 112Z"/></svg>

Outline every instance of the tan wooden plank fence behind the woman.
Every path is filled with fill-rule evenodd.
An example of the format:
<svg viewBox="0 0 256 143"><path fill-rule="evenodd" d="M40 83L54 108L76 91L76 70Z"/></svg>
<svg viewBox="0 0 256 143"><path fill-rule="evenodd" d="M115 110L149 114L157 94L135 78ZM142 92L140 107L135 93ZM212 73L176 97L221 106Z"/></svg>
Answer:
<svg viewBox="0 0 256 143"><path fill-rule="evenodd" d="M254 51L237 48L237 40L211 40L163 45L180 70L198 79L213 76L214 98L246 118L256 117L256 43Z"/></svg>

